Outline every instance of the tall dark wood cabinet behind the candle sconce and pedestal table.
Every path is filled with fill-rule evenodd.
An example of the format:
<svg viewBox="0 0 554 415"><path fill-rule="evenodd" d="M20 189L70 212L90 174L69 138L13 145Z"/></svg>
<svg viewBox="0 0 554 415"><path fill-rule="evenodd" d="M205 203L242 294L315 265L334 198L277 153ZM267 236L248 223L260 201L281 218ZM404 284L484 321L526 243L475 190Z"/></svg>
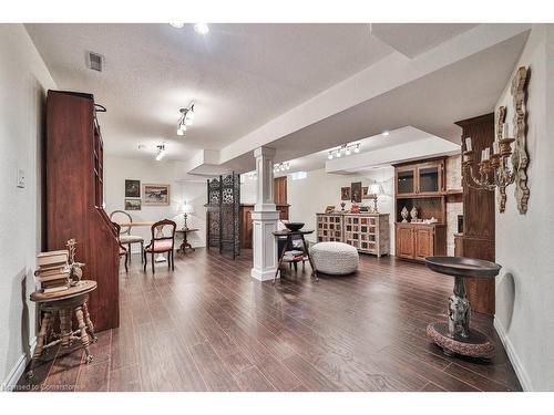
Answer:
<svg viewBox="0 0 554 415"><path fill-rule="evenodd" d="M473 151L491 147L494 142L494 114L455 123L462 127L462 141L471 137ZM463 157L463 156L462 156ZM456 255L494 261L494 191L463 184L463 232L456 237ZM471 309L494 315L494 280L465 280Z"/></svg>

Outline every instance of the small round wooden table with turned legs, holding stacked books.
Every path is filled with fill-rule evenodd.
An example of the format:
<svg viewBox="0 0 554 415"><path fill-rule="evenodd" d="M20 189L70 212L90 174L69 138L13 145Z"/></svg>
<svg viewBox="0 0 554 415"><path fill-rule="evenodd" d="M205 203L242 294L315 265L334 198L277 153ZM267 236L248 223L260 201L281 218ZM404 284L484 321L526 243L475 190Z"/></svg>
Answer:
<svg viewBox="0 0 554 415"><path fill-rule="evenodd" d="M31 301L39 304L42 314L39 335L37 336L37 346L31 361L31 367L27 373L28 377L33 377L34 365L42 356L43 352L57 344L62 347L70 347L74 341L80 341L86 353L86 363L92 361L92 354L89 345L98 340L94 334L94 325L89 315L86 301L89 293L96 289L96 281L82 280L76 286L65 291L44 293L42 290L34 291L31 294ZM73 331L71 328L73 314L76 318L79 329ZM47 343L48 333L52 329L55 315L60 318L61 333L53 333L53 341Z"/></svg>

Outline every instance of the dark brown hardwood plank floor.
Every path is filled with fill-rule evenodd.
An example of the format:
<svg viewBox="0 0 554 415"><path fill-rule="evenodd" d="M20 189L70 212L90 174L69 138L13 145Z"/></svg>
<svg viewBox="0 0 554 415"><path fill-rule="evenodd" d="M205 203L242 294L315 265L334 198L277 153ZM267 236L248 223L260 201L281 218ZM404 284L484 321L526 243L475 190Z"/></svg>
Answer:
<svg viewBox="0 0 554 415"><path fill-rule="evenodd" d="M197 249L175 271L120 272L121 326L99 334L94 360L57 355L20 381L40 391L521 391L492 321L489 363L451 359L425 338L445 319L452 280L424 266L360 256L352 277L319 282L299 267L274 287Z"/></svg>

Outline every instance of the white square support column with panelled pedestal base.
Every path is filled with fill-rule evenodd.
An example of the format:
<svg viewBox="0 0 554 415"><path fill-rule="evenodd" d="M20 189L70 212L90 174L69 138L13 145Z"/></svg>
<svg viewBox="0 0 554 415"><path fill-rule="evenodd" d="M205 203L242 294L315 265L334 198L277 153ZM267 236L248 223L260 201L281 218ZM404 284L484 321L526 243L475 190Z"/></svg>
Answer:
<svg viewBox="0 0 554 415"><path fill-rule="evenodd" d="M279 212L274 203L274 156L275 148L259 147L256 157L256 205L252 212L254 263L250 276L260 281L274 278L277 269L277 230Z"/></svg>

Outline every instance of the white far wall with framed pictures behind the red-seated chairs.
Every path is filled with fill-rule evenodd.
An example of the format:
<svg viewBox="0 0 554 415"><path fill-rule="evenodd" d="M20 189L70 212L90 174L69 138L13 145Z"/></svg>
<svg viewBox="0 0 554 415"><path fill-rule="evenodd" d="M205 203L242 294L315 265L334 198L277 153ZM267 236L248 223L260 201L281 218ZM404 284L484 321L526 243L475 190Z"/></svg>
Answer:
<svg viewBox="0 0 554 415"><path fill-rule="evenodd" d="M177 215L179 204L185 200L193 205L194 214L188 215L189 228L198 228L197 232L188 235L193 247L204 247L206 236L206 183L178 180L178 163L171 160L156 162L155 159L135 159L122 157L104 157L104 199L105 210L110 215L113 210L124 210L125 179L141 180L141 196L143 184L168 184L170 206L142 206L141 210L127 210L133 221L156 221L172 219L177 227L183 227L183 215ZM151 240L151 230L147 227L133 228L132 235L144 237L145 243ZM181 241L178 242L181 245ZM140 252L141 246L132 246L133 252Z"/></svg>

